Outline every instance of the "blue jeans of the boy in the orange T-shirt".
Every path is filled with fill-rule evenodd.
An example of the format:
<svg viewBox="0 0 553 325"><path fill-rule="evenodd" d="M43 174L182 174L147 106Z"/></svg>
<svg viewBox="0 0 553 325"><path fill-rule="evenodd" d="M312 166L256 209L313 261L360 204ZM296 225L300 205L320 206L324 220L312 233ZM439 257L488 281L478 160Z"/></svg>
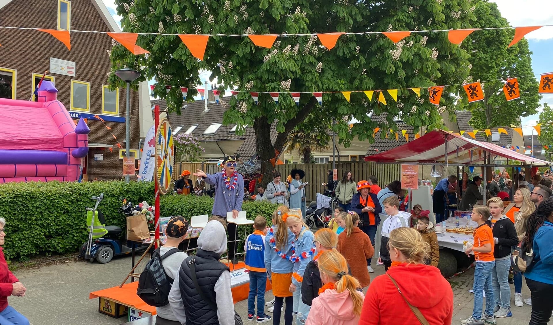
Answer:
<svg viewBox="0 0 553 325"><path fill-rule="evenodd" d="M475 321L482 319L482 291L486 290L486 315L493 315L493 285L492 271L495 266L495 261L488 263L476 263L474 268L474 309L472 310L472 318Z"/></svg>

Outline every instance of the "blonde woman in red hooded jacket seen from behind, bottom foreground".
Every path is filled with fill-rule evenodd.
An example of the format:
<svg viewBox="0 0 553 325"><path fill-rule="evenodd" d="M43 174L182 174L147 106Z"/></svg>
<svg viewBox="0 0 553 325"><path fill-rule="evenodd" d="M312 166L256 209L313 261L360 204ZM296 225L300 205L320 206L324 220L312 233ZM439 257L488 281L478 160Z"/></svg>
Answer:
<svg viewBox="0 0 553 325"><path fill-rule="evenodd" d="M390 232L392 267L369 286L359 325L449 325L453 316L451 285L434 266L425 265L430 251L418 231L401 227ZM422 281L421 281L422 280Z"/></svg>

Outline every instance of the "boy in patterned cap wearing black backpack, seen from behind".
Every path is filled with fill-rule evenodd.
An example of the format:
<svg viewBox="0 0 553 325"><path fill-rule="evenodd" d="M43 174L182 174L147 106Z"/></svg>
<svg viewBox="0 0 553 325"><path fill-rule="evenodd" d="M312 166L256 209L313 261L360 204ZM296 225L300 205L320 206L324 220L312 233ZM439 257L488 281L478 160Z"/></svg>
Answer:
<svg viewBox="0 0 553 325"><path fill-rule="evenodd" d="M174 217L167 223L165 245L154 250L152 259L148 262L138 280L137 294L150 306L156 306L158 318L178 321L169 305L169 291L180 265L188 255L178 247L186 235L188 222L183 217ZM164 272L159 272L159 265Z"/></svg>

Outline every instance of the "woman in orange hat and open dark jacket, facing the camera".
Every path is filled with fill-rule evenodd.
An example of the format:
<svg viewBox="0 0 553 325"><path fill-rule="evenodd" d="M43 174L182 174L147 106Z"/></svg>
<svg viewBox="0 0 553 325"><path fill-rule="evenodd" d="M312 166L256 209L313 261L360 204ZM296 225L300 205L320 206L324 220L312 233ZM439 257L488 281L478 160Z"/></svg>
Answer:
<svg viewBox="0 0 553 325"><path fill-rule="evenodd" d="M371 185L369 185L368 181L357 182L357 194L353 196L349 209L359 214L359 219L363 225L359 228L371 238L371 243L374 246L374 237L380 224L382 206L380 206L377 196L369 193L369 190L371 190ZM369 273L374 272L373 268L371 268L371 260L370 258L367 259Z"/></svg>

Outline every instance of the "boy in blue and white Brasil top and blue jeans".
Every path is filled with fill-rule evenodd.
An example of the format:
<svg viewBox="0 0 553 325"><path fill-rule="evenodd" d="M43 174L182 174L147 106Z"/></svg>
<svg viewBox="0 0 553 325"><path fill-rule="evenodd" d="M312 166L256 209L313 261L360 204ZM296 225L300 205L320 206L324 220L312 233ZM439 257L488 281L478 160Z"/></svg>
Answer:
<svg viewBox="0 0 553 325"><path fill-rule="evenodd" d="M265 314L265 289L267 269L265 269L265 228L267 219L257 216L253 223L253 233L244 243L246 269L249 270L248 321L269 322L272 318ZM257 295L257 316L255 316L255 296Z"/></svg>

